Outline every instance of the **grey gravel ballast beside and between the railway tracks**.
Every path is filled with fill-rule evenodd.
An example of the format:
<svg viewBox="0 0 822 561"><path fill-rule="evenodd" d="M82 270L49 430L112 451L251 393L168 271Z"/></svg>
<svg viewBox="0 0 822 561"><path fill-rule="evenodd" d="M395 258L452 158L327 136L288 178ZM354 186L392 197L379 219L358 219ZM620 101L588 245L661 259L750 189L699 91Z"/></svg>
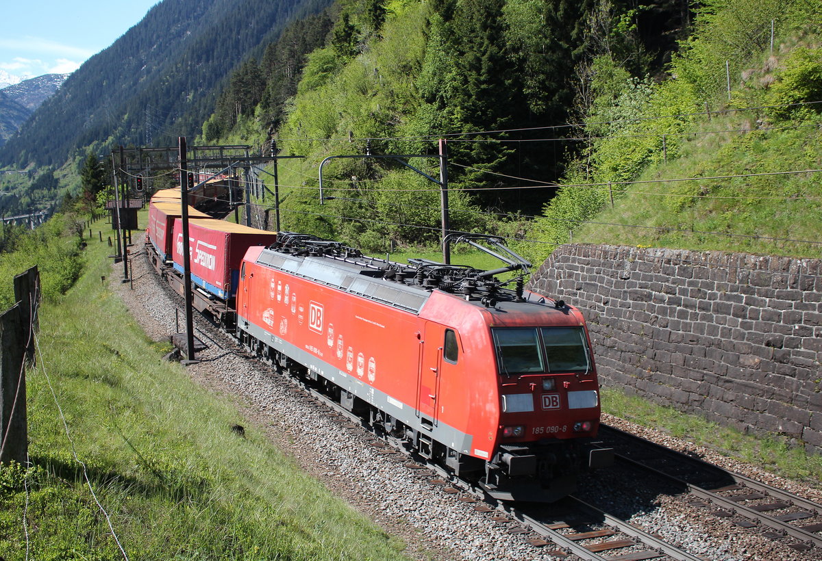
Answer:
<svg viewBox="0 0 822 561"><path fill-rule="evenodd" d="M182 310L182 298L155 274L142 240L136 240L132 255L133 289L129 283L120 283L116 272L112 286L150 338L168 341L169 335L176 331L174 309ZM459 502L458 495L447 494L441 486L432 485L430 477L404 467L408 460L402 455L381 452L367 439L356 435L356 431L346 428L344 421L330 415L328 408L318 406L305 394L293 392L289 381L248 357L231 338L215 332L207 322L196 318L195 325L196 336L208 348L199 353L200 363L187 366L192 379L232 398L249 425L263 430L273 444L335 494L366 513L390 534L404 539L411 557L471 561L556 559L549 554L555 549L551 545L538 548L525 541L528 534L510 535L509 525L490 522L489 515L475 512L473 504ZM671 443L672 439L657 431L610 416L606 422L660 444L687 446L687 443ZM774 484L774 476L709 451L700 453L720 467ZM819 491L790 481L777 481L777 485L792 493L817 501L822 498ZM580 481L586 499L598 497L603 502L635 501L642 491L631 485L637 484L621 481L618 473L594 474ZM685 546L690 553L704 559L815 559L712 517L680 497L643 497L641 504L643 512L634 513L630 522ZM653 508L649 509L649 504Z"/></svg>

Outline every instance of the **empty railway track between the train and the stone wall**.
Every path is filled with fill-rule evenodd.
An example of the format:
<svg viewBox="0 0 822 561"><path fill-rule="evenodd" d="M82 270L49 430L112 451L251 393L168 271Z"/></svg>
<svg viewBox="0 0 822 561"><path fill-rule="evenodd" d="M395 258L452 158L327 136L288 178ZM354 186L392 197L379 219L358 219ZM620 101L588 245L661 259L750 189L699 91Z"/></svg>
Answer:
<svg viewBox="0 0 822 561"><path fill-rule="evenodd" d="M822 555L822 504L611 426L600 425L599 438L615 449L618 462L680 486L691 495L689 504L793 550Z"/></svg>

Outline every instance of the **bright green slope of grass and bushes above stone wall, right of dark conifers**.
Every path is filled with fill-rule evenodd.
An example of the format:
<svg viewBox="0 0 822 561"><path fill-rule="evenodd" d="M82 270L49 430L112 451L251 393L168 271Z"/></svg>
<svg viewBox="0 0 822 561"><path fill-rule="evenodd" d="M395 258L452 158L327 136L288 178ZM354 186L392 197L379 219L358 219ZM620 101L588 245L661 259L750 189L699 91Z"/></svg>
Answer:
<svg viewBox="0 0 822 561"><path fill-rule="evenodd" d="M820 256L822 2L701 3L667 80L594 61L589 144L533 223L533 262L568 241Z"/></svg>

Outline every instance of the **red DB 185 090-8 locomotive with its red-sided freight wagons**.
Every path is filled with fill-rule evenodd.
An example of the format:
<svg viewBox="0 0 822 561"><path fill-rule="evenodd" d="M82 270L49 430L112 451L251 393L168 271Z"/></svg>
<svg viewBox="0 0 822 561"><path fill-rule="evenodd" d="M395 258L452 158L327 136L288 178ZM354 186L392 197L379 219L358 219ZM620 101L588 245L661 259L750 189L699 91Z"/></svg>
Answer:
<svg viewBox="0 0 822 561"><path fill-rule="evenodd" d="M147 237L182 293L179 214L152 199ZM524 262L499 240L484 241L515 259L481 271L189 216L198 310L455 476L496 499L551 502L611 461L594 442L599 384L582 314L521 277L506 288L496 275Z"/></svg>

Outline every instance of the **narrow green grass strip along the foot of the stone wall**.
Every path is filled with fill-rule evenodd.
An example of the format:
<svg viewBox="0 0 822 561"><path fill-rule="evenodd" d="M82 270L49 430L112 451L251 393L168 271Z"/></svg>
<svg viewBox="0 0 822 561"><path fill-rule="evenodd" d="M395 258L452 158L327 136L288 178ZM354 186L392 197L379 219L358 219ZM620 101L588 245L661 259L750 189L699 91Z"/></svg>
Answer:
<svg viewBox="0 0 822 561"><path fill-rule="evenodd" d="M809 456L778 435L744 435L697 415L662 407L618 389L603 389L603 412L685 439L780 476L820 488L822 456Z"/></svg>

